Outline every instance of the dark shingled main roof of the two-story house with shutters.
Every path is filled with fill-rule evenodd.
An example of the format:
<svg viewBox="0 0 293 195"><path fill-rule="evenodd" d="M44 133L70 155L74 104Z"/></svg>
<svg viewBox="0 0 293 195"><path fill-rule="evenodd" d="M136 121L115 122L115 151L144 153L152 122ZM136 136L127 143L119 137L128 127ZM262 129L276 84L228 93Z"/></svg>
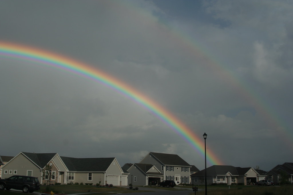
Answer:
<svg viewBox="0 0 293 195"><path fill-rule="evenodd" d="M164 165L178 165L178 166L188 166L191 167L186 161L184 161L180 156L177 154L165 154L165 153L156 153L150 152L152 156L158 159Z"/></svg>

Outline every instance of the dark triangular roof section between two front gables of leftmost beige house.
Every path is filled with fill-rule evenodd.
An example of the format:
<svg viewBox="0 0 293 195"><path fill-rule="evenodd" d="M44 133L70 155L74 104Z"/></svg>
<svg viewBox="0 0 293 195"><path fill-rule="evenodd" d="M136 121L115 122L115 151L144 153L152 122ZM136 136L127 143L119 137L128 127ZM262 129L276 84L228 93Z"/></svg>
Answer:
<svg viewBox="0 0 293 195"><path fill-rule="evenodd" d="M29 153L21 152L40 168L44 168L57 153Z"/></svg>

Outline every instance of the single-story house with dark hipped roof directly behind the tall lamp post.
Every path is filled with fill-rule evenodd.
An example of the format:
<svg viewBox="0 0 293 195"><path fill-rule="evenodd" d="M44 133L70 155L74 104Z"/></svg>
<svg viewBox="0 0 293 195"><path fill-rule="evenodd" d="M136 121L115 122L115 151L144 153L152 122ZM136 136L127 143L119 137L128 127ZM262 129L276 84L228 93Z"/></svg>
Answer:
<svg viewBox="0 0 293 195"><path fill-rule="evenodd" d="M241 168L229 165L213 165L207 168L207 184L234 183L250 184L259 181L260 174L252 167ZM205 169L191 175L194 185L205 183Z"/></svg>

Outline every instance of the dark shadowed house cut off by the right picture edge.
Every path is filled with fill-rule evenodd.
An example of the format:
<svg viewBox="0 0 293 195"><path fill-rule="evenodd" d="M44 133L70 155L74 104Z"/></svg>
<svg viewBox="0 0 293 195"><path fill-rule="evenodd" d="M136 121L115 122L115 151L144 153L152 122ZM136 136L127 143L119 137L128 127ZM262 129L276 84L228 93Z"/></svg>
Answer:
<svg viewBox="0 0 293 195"><path fill-rule="evenodd" d="M286 180L293 183L293 163L284 163L277 165L272 170L266 173L267 179L275 182L276 184L286 177Z"/></svg>

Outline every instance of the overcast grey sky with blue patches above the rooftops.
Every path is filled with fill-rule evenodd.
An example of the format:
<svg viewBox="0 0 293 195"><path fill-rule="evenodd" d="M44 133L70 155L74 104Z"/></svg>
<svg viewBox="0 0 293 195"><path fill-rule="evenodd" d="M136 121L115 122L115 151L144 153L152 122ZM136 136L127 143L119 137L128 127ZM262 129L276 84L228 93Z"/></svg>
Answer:
<svg viewBox="0 0 293 195"><path fill-rule="evenodd" d="M1 0L0 41L78 59L160 104L223 165L293 162L293 2ZM202 155L133 100L38 63L0 56L1 153ZM211 164L208 163L208 166Z"/></svg>

